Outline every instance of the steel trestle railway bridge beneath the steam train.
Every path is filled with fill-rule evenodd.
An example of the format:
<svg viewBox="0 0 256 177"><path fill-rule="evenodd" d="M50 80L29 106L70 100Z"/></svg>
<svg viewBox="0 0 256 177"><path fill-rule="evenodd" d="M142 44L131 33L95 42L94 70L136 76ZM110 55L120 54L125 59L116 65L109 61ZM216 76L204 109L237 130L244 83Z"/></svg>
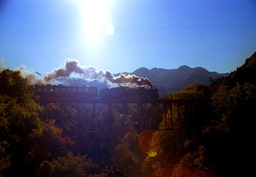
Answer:
<svg viewBox="0 0 256 177"><path fill-rule="evenodd" d="M97 122L95 129L81 132L171 131L179 128L186 110L196 100L132 99L40 99L44 105L70 104L82 119L82 110ZM102 118L104 114L104 118Z"/></svg>

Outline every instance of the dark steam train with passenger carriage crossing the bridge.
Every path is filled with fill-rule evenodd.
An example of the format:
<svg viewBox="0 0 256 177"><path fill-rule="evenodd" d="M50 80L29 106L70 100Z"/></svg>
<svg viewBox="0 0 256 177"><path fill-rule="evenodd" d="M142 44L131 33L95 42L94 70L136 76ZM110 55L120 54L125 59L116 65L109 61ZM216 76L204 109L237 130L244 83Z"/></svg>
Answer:
<svg viewBox="0 0 256 177"><path fill-rule="evenodd" d="M96 86L40 85L34 84L35 94L40 98L68 99L158 99L156 88L129 88L125 86L98 89Z"/></svg>

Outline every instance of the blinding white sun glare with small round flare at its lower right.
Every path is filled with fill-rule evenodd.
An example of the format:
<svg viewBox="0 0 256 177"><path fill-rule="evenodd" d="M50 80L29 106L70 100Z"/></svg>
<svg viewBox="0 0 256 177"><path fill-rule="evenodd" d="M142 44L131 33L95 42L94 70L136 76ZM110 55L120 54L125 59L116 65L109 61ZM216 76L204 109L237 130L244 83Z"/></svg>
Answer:
<svg viewBox="0 0 256 177"><path fill-rule="evenodd" d="M109 35L114 33L109 16L110 0L84 0L81 3L87 38L97 40L104 31Z"/></svg>

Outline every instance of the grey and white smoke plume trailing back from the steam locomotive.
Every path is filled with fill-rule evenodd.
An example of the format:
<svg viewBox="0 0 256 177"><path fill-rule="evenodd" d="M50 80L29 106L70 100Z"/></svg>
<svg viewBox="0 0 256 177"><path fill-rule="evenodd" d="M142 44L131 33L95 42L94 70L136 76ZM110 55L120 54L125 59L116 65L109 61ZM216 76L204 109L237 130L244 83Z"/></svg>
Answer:
<svg viewBox="0 0 256 177"><path fill-rule="evenodd" d="M61 62L59 68L54 69L51 72L46 73L44 76L35 73L34 71L26 71L24 66L17 69L20 71L22 76L27 78L29 83L37 84L52 84L54 79L59 77L79 77L84 78L87 81L98 80L99 82L105 83L110 87L119 86L149 86L152 87L152 83L147 78L138 77L134 74L127 76L120 74L119 76L114 76L114 74L108 70L97 70L94 66L82 66L77 59L67 58L65 61Z"/></svg>

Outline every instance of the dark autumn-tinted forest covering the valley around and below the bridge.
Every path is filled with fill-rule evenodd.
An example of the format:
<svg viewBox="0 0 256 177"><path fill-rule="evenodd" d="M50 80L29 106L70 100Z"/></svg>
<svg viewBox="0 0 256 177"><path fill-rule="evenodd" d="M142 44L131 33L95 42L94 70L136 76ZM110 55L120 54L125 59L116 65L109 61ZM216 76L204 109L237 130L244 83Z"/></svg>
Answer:
<svg viewBox="0 0 256 177"><path fill-rule="evenodd" d="M70 105L41 105L19 72L3 70L0 177L221 177L254 171L256 52L210 86L189 86L164 99L200 102L186 109L173 131L82 133L81 126L95 124L89 115L78 120Z"/></svg>

